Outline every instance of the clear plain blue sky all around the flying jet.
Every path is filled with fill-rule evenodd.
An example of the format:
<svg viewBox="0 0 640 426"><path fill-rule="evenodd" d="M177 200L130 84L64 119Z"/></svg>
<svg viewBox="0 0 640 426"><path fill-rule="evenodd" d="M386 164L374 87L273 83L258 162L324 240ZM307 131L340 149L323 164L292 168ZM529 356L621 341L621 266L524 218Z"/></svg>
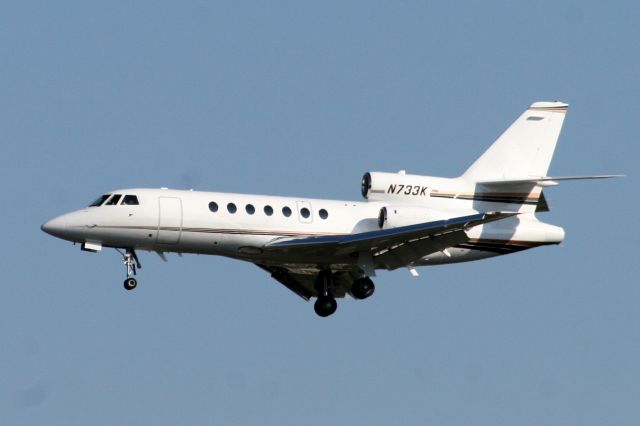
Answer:
<svg viewBox="0 0 640 426"><path fill-rule="evenodd" d="M517 3L517 4L516 4ZM20 1L0 6L0 424L640 424L640 6ZM360 199L456 176L570 104L559 247L382 272L327 319L251 264L45 220L121 187Z"/></svg>

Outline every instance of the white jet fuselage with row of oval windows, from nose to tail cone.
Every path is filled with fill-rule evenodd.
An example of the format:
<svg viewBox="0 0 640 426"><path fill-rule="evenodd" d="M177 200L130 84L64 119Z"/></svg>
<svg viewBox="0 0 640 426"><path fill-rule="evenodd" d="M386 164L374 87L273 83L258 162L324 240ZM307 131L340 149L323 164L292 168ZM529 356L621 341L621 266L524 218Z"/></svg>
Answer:
<svg viewBox="0 0 640 426"><path fill-rule="evenodd" d="M59 216L43 229L60 238L87 247L119 247L159 253L201 253L221 255L261 264L319 265L353 264L353 258L298 258L265 254L262 247L278 239L345 235L380 229L384 207L388 223L395 227L430 220L504 210L504 203L433 196L443 193L473 192L460 179L431 178L420 195L398 194L397 199L380 201L338 201L279 196L169 189L123 189L110 194L134 195L138 204L103 204ZM106 203L108 203L107 201ZM215 204L212 204L215 203ZM495 206L493 206L495 204ZM235 209L234 209L235 206ZM508 205L507 205L508 206ZM519 206L513 206L517 211ZM398 214L395 218L394 212ZM408 212L404 214L404 212ZM270 213L270 214L269 214ZM539 222L533 213L476 226L467 231L469 243L431 253L414 266L463 262L556 244L564 232L557 226ZM376 265L376 267L380 267Z"/></svg>

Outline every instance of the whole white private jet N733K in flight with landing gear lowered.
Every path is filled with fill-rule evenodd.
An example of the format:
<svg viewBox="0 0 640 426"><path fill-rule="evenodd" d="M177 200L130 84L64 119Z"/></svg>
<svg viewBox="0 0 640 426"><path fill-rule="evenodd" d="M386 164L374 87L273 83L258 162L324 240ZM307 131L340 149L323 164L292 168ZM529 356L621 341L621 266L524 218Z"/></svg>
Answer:
<svg viewBox="0 0 640 426"><path fill-rule="evenodd" d="M336 298L367 299L376 270L466 262L559 244L540 221L543 189L619 175L547 175L568 105L536 102L459 177L368 172L364 201L119 189L42 225L84 251L115 248L137 286L137 251L197 253L251 262L308 301L321 317Z"/></svg>

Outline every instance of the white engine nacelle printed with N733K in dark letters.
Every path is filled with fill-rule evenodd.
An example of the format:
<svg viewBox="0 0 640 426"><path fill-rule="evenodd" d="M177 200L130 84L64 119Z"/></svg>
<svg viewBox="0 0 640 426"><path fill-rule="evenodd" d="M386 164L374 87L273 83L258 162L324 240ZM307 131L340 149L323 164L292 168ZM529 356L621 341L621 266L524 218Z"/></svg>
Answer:
<svg viewBox="0 0 640 426"><path fill-rule="evenodd" d="M362 196L369 201L419 202L429 198L433 180L429 176L368 172L362 176Z"/></svg>

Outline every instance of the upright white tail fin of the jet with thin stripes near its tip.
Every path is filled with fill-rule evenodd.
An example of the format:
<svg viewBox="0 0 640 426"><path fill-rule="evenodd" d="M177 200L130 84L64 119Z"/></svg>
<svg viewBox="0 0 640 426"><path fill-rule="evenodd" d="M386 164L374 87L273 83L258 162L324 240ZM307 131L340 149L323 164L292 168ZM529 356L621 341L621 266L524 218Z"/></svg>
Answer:
<svg viewBox="0 0 640 426"><path fill-rule="evenodd" d="M546 176L567 107L562 102L532 104L462 177L481 182Z"/></svg>

